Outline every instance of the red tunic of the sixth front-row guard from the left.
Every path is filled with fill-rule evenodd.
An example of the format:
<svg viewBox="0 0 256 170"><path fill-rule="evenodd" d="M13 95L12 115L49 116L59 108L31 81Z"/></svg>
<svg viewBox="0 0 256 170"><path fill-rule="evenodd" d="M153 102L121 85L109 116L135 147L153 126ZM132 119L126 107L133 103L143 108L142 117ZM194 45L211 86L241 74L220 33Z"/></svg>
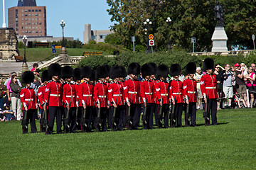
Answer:
<svg viewBox="0 0 256 170"><path fill-rule="evenodd" d="M112 103L116 103L117 106L124 105L123 90L123 86L119 82L110 84L108 87L108 100L110 101L110 106L113 106Z"/></svg>

